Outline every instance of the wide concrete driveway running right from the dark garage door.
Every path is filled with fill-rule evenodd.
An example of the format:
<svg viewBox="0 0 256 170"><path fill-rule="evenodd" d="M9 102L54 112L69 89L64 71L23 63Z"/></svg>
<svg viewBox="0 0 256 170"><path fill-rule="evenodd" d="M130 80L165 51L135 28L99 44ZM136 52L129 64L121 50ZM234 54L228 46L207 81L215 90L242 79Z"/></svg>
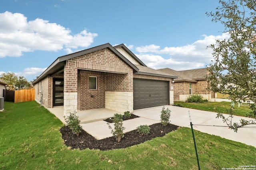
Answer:
<svg viewBox="0 0 256 170"><path fill-rule="evenodd" d="M233 130L228 129L228 127L218 127L226 126L226 123L223 123L222 119L216 118L217 113L215 112L177 106L165 107L168 107L171 110L170 123L174 125L190 128L190 120L188 115L189 111L192 124L194 125L194 130L211 135L217 135L232 141L237 141L256 147L256 125L247 125L246 127L238 129L238 132L236 133ZM146 117L148 119L159 120L161 110L162 107L155 107L150 109L135 110L134 114L140 117ZM250 120L250 118L240 116L234 116L234 118L232 118L234 122L239 122L240 119Z"/></svg>

